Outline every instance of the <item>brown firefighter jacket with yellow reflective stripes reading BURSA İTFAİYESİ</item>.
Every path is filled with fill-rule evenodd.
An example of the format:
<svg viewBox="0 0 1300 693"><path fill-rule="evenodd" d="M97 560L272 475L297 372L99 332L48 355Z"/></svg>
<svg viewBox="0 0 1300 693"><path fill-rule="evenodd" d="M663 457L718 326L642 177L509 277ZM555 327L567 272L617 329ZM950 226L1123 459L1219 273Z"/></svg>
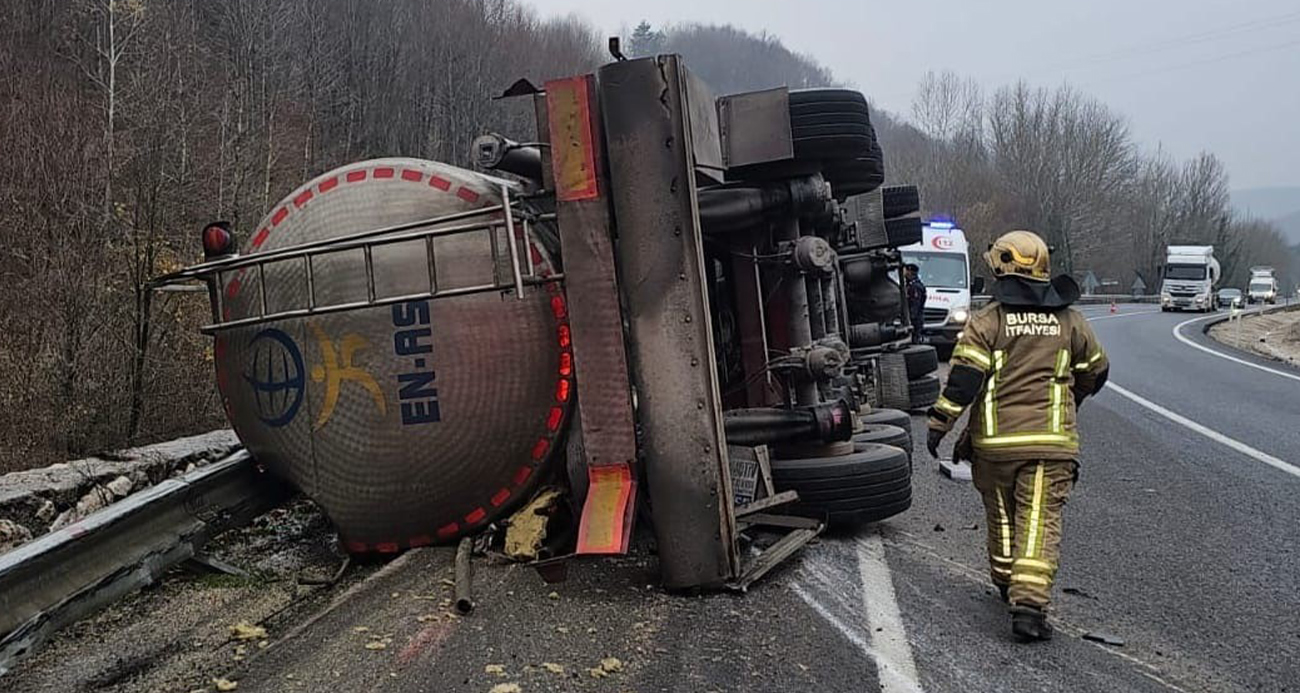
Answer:
<svg viewBox="0 0 1300 693"><path fill-rule="evenodd" d="M949 430L970 407L976 458L1078 459L1076 403L1105 385L1109 368L1078 311L994 302L954 347L930 428Z"/></svg>

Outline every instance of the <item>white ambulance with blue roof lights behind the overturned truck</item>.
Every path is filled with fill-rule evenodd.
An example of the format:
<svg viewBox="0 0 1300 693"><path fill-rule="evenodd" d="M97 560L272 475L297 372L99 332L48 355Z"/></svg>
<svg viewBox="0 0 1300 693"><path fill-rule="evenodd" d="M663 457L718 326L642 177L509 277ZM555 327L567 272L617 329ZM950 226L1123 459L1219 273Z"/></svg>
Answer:
<svg viewBox="0 0 1300 693"><path fill-rule="evenodd" d="M926 285L926 341L950 348L971 312L971 263L966 234L952 220L936 218L926 222L920 243L898 250L904 263L920 268L920 281Z"/></svg>

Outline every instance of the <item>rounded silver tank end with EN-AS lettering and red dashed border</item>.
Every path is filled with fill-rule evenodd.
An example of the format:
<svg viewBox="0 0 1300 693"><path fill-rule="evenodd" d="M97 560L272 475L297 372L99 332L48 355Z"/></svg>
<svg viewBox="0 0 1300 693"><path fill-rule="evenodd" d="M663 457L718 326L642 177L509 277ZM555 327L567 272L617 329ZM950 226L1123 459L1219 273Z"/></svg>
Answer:
<svg viewBox="0 0 1300 693"><path fill-rule="evenodd" d="M445 164L381 159L302 186L276 205L244 255L500 204L486 178ZM499 220L500 215L495 215ZM439 291L511 277L504 224L433 243ZM516 233L521 229L516 226ZM373 248L376 299L428 291L422 239ZM552 273L528 239L521 261ZM504 260L503 260L504 259ZM495 265L495 267L494 267ZM528 265L525 265L525 273ZM572 389L567 311L556 282L367 306L363 250L221 278L229 320L343 303L344 312L218 333L217 380L240 439L315 499L354 553L454 540L526 499L564 429Z"/></svg>

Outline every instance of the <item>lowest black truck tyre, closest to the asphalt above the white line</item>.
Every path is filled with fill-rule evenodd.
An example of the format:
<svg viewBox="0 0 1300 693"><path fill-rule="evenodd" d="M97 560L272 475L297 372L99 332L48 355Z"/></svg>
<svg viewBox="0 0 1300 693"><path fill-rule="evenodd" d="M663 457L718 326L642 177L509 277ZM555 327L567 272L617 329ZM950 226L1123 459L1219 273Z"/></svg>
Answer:
<svg viewBox="0 0 1300 693"><path fill-rule="evenodd" d="M800 494L796 510L822 515L832 524L883 520L911 506L907 455L893 446L859 443L838 458L774 459L780 490Z"/></svg>

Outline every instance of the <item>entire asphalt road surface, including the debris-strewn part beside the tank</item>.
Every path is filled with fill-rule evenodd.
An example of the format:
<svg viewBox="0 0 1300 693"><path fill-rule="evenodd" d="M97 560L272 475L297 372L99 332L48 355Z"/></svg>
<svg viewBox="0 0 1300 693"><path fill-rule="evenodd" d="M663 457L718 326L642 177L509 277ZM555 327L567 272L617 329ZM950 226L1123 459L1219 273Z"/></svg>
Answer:
<svg viewBox="0 0 1300 693"><path fill-rule="evenodd" d="M1300 373L1230 352L1199 324L1187 339L1279 372L1176 339L1196 316L1083 309L1131 397L1108 389L1080 412L1049 644L1013 642L987 584L979 498L918 449L909 512L820 540L746 595L664 594L638 550L576 563L560 585L482 563L480 606L455 618L451 554L422 550L261 621L265 647L213 633L222 612L260 621L280 601L257 611L247 593L222 602L172 582L60 636L5 690L212 690L214 677L238 690L1300 689ZM161 628L186 605L203 618Z"/></svg>

